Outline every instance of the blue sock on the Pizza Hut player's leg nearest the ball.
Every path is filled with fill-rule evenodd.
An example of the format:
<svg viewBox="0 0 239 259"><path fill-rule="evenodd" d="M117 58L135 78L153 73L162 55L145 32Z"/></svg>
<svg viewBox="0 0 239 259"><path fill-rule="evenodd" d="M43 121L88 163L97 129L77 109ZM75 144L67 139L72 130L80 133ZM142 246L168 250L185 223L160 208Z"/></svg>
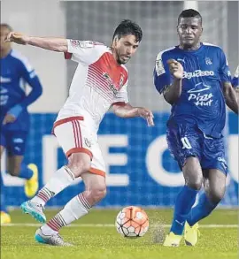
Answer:
<svg viewBox="0 0 239 259"><path fill-rule="evenodd" d="M181 235L184 229L186 218L192 208L198 191L188 186L184 186L178 194L173 214L173 223L170 232Z"/></svg>

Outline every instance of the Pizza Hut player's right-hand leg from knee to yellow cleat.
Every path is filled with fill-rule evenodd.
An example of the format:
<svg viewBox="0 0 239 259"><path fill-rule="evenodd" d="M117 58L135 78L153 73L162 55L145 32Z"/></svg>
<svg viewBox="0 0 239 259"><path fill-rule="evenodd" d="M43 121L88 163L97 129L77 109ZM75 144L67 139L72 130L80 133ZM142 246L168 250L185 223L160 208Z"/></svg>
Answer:
<svg viewBox="0 0 239 259"><path fill-rule="evenodd" d="M204 193L200 195L197 206L191 209L185 228L185 243L195 246L198 240L198 221L207 217L217 207L226 190L226 175L217 169L204 171Z"/></svg>

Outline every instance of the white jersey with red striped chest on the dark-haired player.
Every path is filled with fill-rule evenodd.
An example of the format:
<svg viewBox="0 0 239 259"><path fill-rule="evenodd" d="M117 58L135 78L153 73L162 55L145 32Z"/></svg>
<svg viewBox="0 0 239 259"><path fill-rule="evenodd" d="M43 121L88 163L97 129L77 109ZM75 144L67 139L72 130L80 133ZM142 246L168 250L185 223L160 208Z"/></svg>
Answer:
<svg viewBox="0 0 239 259"><path fill-rule="evenodd" d="M95 130L112 103L128 102L128 73L110 48L99 42L67 40L66 59L78 63L69 96L58 118L82 116Z"/></svg>

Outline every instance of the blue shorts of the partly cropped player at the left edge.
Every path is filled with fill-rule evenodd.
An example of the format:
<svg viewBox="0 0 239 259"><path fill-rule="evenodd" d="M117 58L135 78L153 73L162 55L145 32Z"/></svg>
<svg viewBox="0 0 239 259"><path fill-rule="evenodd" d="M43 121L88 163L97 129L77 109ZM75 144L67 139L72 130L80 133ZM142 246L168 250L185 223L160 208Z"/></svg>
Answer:
<svg viewBox="0 0 239 259"><path fill-rule="evenodd" d="M1 131L0 145L4 146L8 156L23 156L27 142L26 131Z"/></svg>

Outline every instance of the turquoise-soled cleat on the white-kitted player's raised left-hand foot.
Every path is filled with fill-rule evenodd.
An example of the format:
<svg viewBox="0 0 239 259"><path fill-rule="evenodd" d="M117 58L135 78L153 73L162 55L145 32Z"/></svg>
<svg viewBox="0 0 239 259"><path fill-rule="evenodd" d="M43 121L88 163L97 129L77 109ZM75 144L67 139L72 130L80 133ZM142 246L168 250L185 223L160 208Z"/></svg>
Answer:
<svg viewBox="0 0 239 259"><path fill-rule="evenodd" d="M22 209L22 211L24 213L30 214L37 221L39 221L41 223L46 222L46 217L45 217L45 214L43 212L44 207L41 204L31 202L31 201L27 201L27 202L23 202L20 205L20 209Z"/></svg>

